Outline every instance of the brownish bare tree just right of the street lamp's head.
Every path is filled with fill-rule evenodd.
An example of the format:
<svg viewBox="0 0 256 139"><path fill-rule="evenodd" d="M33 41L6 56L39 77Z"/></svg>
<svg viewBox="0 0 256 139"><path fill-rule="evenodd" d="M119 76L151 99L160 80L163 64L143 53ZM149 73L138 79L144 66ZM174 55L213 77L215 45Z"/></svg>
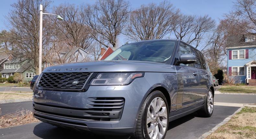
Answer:
<svg viewBox="0 0 256 139"><path fill-rule="evenodd" d="M86 21L80 15L81 8L71 4L62 4L54 7L53 11L64 19L63 22L58 22L52 18L55 38L66 42L68 46L87 49L93 39L86 30Z"/></svg>

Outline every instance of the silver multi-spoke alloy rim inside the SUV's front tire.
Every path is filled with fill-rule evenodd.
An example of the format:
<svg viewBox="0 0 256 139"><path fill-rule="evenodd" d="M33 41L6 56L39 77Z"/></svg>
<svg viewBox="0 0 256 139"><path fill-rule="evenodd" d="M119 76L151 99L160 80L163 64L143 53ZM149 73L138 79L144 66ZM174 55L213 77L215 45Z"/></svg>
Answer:
<svg viewBox="0 0 256 139"><path fill-rule="evenodd" d="M164 100L156 97L147 110L147 133L150 139L161 139L167 129L167 107Z"/></svg>

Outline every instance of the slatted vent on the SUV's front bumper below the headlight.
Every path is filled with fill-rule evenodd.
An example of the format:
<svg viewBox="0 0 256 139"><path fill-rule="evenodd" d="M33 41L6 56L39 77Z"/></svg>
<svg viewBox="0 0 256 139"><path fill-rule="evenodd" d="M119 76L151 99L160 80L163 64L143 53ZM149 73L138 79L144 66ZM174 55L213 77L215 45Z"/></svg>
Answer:
<svg viewBox="0 0 256 139"><path fill-rule="evenodd" d="M85 115L96 121L118 121L121 118L124 98L91 98Z"/></svg>

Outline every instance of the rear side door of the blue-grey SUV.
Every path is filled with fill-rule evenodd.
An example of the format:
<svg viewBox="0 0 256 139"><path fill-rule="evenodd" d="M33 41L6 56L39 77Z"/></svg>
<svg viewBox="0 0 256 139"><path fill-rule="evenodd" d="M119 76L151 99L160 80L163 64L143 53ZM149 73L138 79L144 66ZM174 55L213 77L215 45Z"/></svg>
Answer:
<svg viewBox="0 0 256 139"><path fill-rule="evenodd" d="M192 48L192 54L197 57L197 62L195 67L197 68L198 77L199 77L199 86L198 86L198 100L204 99L205 95L208 93L208 84L210 84L210 73L206 70L206 62L203 54Z"/></svg>

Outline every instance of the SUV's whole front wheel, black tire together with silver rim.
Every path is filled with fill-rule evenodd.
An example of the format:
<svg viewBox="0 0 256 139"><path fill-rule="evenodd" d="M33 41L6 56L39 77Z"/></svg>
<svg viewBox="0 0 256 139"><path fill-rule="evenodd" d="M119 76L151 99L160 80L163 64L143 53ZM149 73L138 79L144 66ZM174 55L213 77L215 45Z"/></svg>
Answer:
<svg viewBox="0 0 256 139"><path fill-rule="evenodd" d="M153 105L156 102L156 107L158 104L162 104L162 107L158 112L155 112L156 117L154 116ZM159 107L158 107L159 108ZM151 110L151 111L150 111ZM148 112L150 114L148 114ZM167 113L166 113L167 112ZM157 114L156 114L157 113ZM163 114L165 113L165 114ZM159 115L158 115L159 114ZM162 116L160 116L162 114ZM164 116L163 116L164 115ZM153 117L154 116L154 117ZM148 118L151 117L151 118ZM147 121L149 123L147 123ZM164 94L161 91L153 91L148 95L145 102L143 103L136 123L135 133L131 136L133 139L151 139L153 136L157 136L159 132L162 132L162 135L159 135L159 139L164 139L169 124L169 106L166 101ZM163 128L161 128L161 125ZM165 127L164 127L165 126ZM148 131L150 135L148 134ZM151 131L151 132L150 132Z"/></svg>

